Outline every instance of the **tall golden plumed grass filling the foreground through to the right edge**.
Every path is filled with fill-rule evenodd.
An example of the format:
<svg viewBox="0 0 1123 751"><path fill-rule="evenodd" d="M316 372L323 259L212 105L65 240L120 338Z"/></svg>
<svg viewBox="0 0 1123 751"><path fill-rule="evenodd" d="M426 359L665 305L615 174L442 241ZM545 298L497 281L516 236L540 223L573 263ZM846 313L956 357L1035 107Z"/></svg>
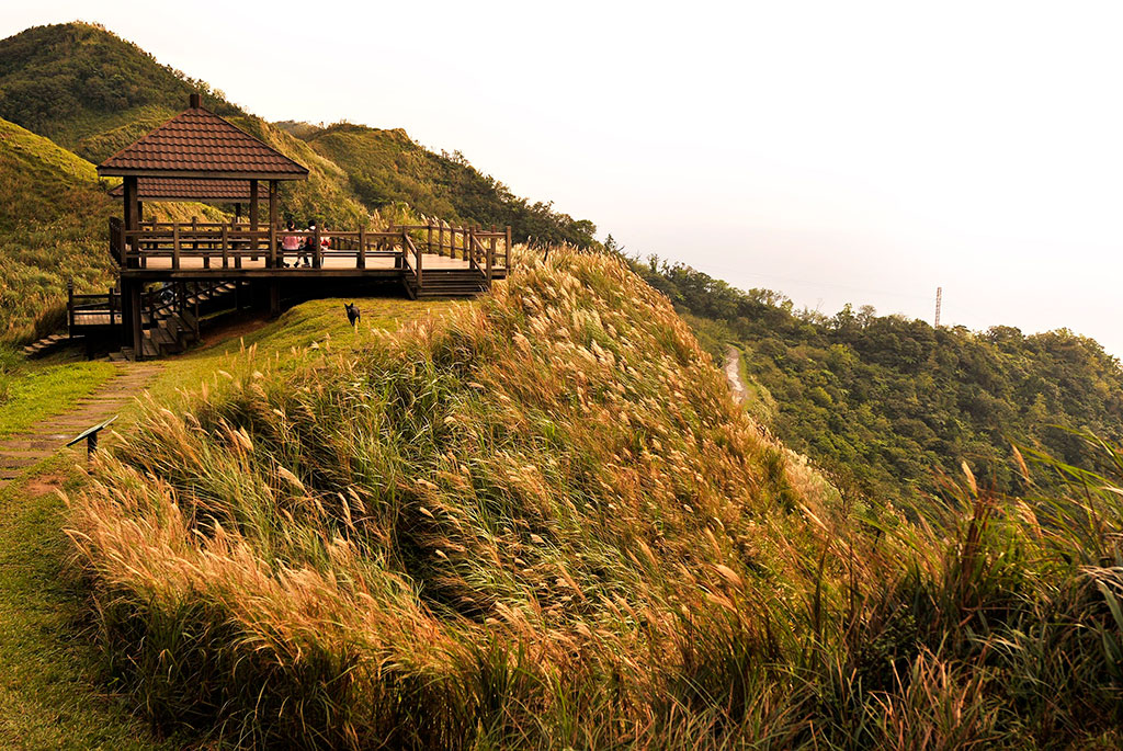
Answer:
<svg viewBox="0 0 1123 751"><path fill-rule="evenodd" d="M618 262L250 348L71 498L118 687L301 748L1113 747L1121 505L840 497ZM174 406L174 409L173 409ZM1112 449L1104 449L1111 454ZM1113 456L1119 456L1115 452Z"/></svg>

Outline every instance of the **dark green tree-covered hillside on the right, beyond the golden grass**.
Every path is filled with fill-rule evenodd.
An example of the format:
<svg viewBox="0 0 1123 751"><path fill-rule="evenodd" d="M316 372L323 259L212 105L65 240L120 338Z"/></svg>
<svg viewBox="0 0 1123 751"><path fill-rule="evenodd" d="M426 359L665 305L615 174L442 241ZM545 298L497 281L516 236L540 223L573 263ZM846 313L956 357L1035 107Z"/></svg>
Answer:
<svg viewBox="0 0 1123 751"><path fill-rule="evenodd" d="M731 340L743 349L761 420L867 495L916 501L962 459L983 482L1020 492L1011 441L1089 466L1072 431L1123 438L1123 370L1070 331L935 330L849 306L827 318L685 266L637 268L700 317L715 356Z"/></svg>

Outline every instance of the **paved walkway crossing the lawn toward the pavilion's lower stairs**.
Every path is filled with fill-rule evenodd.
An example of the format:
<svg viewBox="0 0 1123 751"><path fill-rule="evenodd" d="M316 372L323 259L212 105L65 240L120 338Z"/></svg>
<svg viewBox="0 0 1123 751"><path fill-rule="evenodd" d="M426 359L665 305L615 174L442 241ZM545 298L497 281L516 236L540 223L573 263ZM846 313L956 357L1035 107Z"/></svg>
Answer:
<svg viewBox="0 0 1123 751"><path fill-rule="evenodd" d="M121 363L112 378L80 399L67 412L47 418L27 432L0 438L0 487L61 449L86 428L119 413L159 370L161 366L156 364Z"/></svg>

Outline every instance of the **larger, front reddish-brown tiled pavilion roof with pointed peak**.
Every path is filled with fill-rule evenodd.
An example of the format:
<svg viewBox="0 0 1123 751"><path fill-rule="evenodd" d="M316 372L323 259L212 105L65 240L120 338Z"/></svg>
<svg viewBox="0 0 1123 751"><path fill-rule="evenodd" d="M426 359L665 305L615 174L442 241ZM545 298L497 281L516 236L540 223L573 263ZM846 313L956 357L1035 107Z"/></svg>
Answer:
<svg viewBox="0 0 1123 751"><path fill-rule="evenodd" d="M102 162L98 174L305 180L308 168L210 110L191 107Z"/></svg>

